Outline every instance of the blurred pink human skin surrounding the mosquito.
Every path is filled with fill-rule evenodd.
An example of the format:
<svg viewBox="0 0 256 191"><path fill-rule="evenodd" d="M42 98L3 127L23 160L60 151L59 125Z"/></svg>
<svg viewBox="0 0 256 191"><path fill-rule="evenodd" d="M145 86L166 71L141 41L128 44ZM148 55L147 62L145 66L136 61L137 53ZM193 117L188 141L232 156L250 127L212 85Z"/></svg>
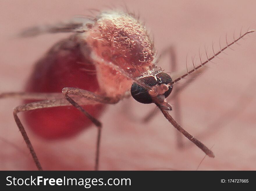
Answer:
<svg viewBox="0 0 256 191"><path fill-rule="evenodd" d="M105 10L123 6L121 1L1 1L0 2L0 92L22 91L36 60L58 40L69 34L47 34L36 38L15 38L22 29L42 24L66 21L74 15L90 14L88 8ZM127 1L131 11L140 14L150 33L155 48L161 52L174 45L179 69L191 66L191 56L204 45L212 55L211 44L219 50L225 35L228 41L233 33L238 37L256 29L255 1ZM204 144L212 148L216 158L206 157L199 170L256 170L256 34L240 40L222 53L221 59L207 64L209 69L180 94L182 126ZM205 60L205 56L203 56ZM170 71L167 61L159 66ZM181 81L184 83L185 81ZM248 89L248 85L250 88ZM64 88L64 87L63 87ZM175 86L174 86L175 88ZM247 90L246 90L247 88ZM174 89L175 90L175 89ZM241 95L244 98L239 103ZM248 101L250 100L250 102ZM29 150L13 119L13 108L21 100L0 100L0 169L36 170ZM175 103L170 101L175 110ZM235 105L239 107L235 107ZM158 113L148 124L141 124L124 112L128 107L136 117L143 117L154 105L143 105L128 99L106 109L100 150L100 170L195 170L205 154L195 145L178 149L176 130ZM246 106L243 108L243 106ZM128 110L128 109L127 109ZM238 111L235 117L230 110ZM241 111L240 111L241 110ZM144 113L145 111L145 113ZM172 115L174 111L171 111ZM203 133L220 116L228 122ZM19 116L22 116L19 114ZM216 126L217 127L217 126ZM26 124L25 124L26 128ZM26 128L28 129L28 128ZM33 135L29 137L45 170L92 170L95 157L96 128L91 126L79 135L65 140L48 141Z"/></svg>

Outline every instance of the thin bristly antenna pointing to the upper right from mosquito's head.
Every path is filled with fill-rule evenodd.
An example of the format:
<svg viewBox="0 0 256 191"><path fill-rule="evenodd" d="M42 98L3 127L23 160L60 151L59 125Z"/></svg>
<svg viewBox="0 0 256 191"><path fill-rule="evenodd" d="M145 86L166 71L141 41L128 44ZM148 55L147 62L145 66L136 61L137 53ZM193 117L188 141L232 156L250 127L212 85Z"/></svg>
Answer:
<svg viewBox="0 0 256 191"><path fill-rule="evenodd" d="M177 83L178 81L180 81L181 79L185 78L187 75L191 74L192 72L194 72L195 70L197 70L198 68L202 67L203 65L205 65L206 63L210 62L212 59L214 59L216 56L218 56L221 52L223 52L225 49L227 49L228 47L230 47L232 44L236 43L237 41L239 41L240 39L242 39L245 35L249 34L249 33L254 33L255 31L254 30L250 30L250 31L247 31L246 33L244 33L243 35L241 35L240 33L240 36L239 38L237 38L236 40L234 40L233 42L231 42L230 44L227 44L224 48L222 48L220 51L218 51L217 53L215 53L212 57L210 58L207 58L207 60L202 63L201 65L193 68L192 70L190 70L189 72L187 72L186 74L176 78L175 80L173 80L170 84L168 85L172 85L174 83Z"/></svg>

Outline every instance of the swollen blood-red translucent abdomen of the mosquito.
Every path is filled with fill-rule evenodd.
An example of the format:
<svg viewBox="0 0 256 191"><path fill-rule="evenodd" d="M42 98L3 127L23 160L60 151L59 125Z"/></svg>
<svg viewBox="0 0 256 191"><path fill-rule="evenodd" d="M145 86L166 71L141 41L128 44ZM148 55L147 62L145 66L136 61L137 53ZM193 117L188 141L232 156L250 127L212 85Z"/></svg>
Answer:
<svg viewBox="0 0 256 191"><path fill-rule="evenodd" d="M46 56L36 63L26 85L26 92L61 93L65 87L99 92L95 66L81 53L79 44L70 39L54 45ZM29 102L31 100L25 101ZM104 105L86 105L83 108L97 118ZM47 139L70 137L92 124L73 106L36 109L25 112L24 115L33 132Z"/></svg>

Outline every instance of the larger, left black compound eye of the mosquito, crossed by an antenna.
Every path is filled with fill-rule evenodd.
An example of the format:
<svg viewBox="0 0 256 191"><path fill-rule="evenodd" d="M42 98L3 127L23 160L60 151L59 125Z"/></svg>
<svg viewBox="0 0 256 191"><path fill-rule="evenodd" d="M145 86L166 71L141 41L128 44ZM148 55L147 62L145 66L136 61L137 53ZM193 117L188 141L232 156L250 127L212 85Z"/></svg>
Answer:
<svg viewBox="0 0 256 191"><path fill-rule="evenodd" d="M138 81L151 87L157 85L157 80L154 78L154 76L144 76L139 78ZM131 96L140 103L152 103L152 98L148 91L142 86L138 85L136 82L131 85Z"/></svg>

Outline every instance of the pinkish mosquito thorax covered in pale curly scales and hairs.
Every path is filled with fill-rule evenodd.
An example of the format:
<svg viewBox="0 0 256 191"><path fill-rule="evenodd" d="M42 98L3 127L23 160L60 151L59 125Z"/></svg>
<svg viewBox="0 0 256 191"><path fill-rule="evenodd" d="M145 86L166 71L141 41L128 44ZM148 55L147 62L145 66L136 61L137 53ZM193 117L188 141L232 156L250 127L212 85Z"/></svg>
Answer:
<svg viewBox="0 0 256 191"><path fill-rule="evenodd" d="M81 37L91 49L100 89L107 96L122 96L132 84L108 63L134 77L154 68L153 43L145 27L128 13L102 13Z"/></svg>

